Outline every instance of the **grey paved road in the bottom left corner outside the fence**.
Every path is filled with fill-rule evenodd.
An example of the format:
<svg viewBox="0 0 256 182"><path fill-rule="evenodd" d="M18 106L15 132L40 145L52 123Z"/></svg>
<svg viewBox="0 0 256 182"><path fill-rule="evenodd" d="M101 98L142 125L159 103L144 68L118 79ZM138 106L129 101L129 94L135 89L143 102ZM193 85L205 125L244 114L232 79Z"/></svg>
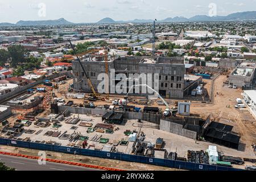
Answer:
<svg viewBox="0 0 256 182"><path fill-rule="evenodd" d="M98 171L98 169L93 168L51 162L46 162L46 165L39 165L38 160L9 155L0 155L0 162L5 163L5 166L15 168L18 171Z"/></svg>

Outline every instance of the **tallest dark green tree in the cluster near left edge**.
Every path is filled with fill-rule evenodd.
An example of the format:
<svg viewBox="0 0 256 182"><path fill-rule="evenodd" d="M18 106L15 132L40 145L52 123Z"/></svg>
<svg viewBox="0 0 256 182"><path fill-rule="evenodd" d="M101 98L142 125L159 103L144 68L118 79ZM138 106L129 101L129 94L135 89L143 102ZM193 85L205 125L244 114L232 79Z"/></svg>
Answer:
<svg viewBox="0 0 256 182"><path fill-rule="evenodd" d="M17 67L17 65L19 65L20 63L24 63L24 59L25 59L25 50L23 46L20 45L14 45L14 46L10 46L8 47L8 51L9 51L9 56L11 59L11 65L13 67Z"/></svg>

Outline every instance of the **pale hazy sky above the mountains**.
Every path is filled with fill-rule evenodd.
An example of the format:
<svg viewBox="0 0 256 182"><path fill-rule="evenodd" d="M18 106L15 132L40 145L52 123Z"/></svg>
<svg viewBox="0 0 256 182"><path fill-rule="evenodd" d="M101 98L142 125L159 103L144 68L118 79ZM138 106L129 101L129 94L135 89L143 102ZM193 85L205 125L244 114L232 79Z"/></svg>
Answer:
<svg viewBox="0 0 256 182"><path fill-rule="evenodd" d="M217 15L256 11L256 0L0 0L0 22L65 18L75 23L90 23L106 17L114 20L190 18L208 15L210 3L216 5Z"/></svg>

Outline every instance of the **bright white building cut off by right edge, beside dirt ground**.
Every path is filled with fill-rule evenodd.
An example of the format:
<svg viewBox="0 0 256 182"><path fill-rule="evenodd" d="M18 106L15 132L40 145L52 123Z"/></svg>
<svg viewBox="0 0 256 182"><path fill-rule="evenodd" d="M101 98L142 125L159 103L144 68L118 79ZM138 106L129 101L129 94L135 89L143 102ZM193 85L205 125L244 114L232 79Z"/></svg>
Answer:
<svg viewBox="0 0 256 182"><path fill-rule="evenodd" d="M256 90L244 90L243 101L245 101L251 115L256 119Z"/></svg>

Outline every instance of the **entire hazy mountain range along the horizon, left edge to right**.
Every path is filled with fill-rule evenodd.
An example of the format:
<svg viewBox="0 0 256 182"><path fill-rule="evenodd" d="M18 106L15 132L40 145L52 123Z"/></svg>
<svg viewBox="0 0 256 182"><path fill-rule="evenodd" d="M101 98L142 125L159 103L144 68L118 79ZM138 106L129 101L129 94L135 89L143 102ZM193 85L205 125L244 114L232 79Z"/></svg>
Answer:
<svg viewBox="0 0 256 182"><path fill-rule="evenodd" d="M183 16L175 16L174 18L166 18L158 20L158 22L214 22L214 21L228 21L228 20L256 20L256 11L245 11L241 13L233 13L227 16L207 16L207 15L196 15L191 18L185 18ZM104 18L98 21L98 24L110 24L110 23L151 23L152 19L134 19L134 20L118 20L115 21L112 18ZM35 21L23 21L20 20L16 24L13 23L0 23L0 26L54 26L54 25L68 25L75 24L68 22L64 18L56 20L35 20ZM81 24L81 23L79 23ZM85 24L85 23L82 23Z"/></svg>

